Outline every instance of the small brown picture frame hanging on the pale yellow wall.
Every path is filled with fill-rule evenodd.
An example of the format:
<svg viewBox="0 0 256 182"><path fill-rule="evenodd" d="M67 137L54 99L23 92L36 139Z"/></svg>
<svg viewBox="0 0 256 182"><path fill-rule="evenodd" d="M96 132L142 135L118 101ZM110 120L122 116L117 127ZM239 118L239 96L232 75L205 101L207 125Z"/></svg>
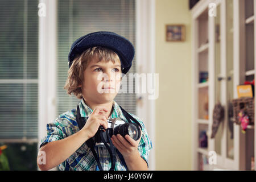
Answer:
<svg viewBox="0 0 256 182"><path fill-rule="evenodd" d="M167 42L184 42L185 26L184 24L167 24L166 25Z"/></svg>

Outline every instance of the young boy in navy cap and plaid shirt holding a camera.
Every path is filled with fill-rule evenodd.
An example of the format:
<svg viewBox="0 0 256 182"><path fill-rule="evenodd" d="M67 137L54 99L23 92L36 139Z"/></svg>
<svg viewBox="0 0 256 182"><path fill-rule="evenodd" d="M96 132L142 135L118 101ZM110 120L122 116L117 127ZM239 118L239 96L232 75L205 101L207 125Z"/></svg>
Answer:
<svg viewBox="0 0 256 182"><path fill-rule="evenodd" d="M69 110L47 124L47 136L42 139L39 151L39 154L44 152L45 163L40 162L38 155L41 170L59 166L60 170L107 171L112 167L113 156L111 158L106 147L94 146L93 154L85 142L96 135L100 126L107 129L110 118L128 122L114 98L122 73L129 71L133 57L133 44L113 32L93 32L72 44L64 88L69 95L73 93L81 100L77 106L79 112ZM76 119L78 113L87 118L81 129ZM114 170L147 170L152 143L141 119L130 115L142 126L141 138L134 140L120 134L111 137L116 151Z"/></svg>

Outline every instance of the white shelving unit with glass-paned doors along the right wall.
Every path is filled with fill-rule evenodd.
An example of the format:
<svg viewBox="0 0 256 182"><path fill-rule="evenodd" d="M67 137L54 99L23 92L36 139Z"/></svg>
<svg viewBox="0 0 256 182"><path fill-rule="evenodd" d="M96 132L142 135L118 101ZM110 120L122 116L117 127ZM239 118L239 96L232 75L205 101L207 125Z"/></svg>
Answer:
<svg viewBox="0 0 256 182"><path fill-rule="evenodd" d="M238 98L237 85L255 76L255 12L256 0L201 0L192 9L193 170L251 170L251 157L256 156L254 126L243 134L230 111L232 100ZM225 117L210 138L217 102L224 106ZM207 145L200 139L204 134ZM216 164L209 164L215 157L211 152Z"/></svg>

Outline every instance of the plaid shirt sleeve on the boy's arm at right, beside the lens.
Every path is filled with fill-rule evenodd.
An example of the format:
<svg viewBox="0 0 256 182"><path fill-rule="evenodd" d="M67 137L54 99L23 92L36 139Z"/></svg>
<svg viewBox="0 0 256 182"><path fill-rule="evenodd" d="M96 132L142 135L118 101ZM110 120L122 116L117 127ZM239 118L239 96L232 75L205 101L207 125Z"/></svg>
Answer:
<svg viewBox="0 0 256 182"><path fill-rule="evenodd" d="M131 114L131 116L133 116L142 126L142 137L141 141L139 142L138 151L141 157L146 161L148 167L148 157L152 149L152 142L149 135L147 134L146 127L144 126L144 123L141 121L141 119L139 119L134 114Z"/></svg>

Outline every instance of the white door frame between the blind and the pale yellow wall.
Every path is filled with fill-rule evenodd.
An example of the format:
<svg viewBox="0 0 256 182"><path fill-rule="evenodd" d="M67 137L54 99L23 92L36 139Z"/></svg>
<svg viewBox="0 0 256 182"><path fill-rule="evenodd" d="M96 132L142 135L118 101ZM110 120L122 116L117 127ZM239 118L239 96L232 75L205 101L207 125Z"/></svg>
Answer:
<svg viewBox="0 0 256 182"><path fill-rule="evenodd" d="M137 73L155 73L155 0L136 1L136 62ZM154 79L153 79L154 80ZM156 80L158 82L158 80ZM155 92L158 92L155 90ZM149 170L155 170L155 100L148 100L150 94L137 94L142 97L142 107L137 107L137 115L146 126L152 141L149 157Z"/></svg>

